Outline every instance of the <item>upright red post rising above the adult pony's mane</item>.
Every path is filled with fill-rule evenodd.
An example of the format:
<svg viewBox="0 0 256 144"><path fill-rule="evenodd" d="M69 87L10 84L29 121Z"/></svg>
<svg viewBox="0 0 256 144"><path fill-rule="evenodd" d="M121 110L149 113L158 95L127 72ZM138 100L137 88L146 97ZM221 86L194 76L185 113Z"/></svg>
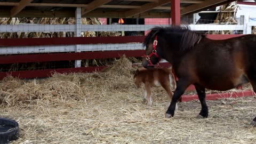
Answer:
<svg viewBox="0 0 256 144"><path fill-rule="evenodd" d="M171 0L172 25L180 25L180 0Z"/></svg>

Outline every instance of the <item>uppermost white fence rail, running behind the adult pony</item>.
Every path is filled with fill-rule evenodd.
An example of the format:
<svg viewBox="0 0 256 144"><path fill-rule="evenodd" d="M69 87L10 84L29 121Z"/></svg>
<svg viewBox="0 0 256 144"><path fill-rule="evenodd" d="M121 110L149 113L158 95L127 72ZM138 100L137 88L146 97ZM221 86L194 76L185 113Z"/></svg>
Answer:
<svg viewBox="0 0 256 144"><path fill-rule="evenodd" d="M147 31L155 26L170 25L81 25L81 31ZM243 30L244 25L188 25L191 30ZM15 32L68 32L76 31L76 25L0 25L0 33Z"/></svg>

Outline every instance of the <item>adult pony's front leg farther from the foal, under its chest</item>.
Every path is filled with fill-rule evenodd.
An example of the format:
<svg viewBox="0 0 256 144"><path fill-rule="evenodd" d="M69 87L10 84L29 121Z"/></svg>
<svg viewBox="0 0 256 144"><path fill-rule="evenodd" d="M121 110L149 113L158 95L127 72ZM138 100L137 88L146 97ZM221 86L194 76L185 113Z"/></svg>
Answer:
<svg viewBox="0 0 256 144"><path fill-rule="evenodd" d="M205 102L205 88L202 86L196 85L196 84L195 84L195 87L196 87L196 92L197 92L197 95L198 95L198 98L200 100L201 107L202 107L199 115L197 115L196 118L207 118L208 117L208 107Z"/></svg>

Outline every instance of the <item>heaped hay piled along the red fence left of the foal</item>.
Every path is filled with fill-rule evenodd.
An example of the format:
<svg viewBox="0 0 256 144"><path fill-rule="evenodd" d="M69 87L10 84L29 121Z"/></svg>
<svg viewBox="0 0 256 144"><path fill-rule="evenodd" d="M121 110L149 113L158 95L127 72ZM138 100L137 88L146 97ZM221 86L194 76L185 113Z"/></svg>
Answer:
<svg viewBox="0 0 256 144"><path fill-rule="evenodd" d="M54 104L65 103L70 99L85 101L90 95L100 97L102 91L116 91L124 87L129 89L133 85L134 70L132 62L122 57L103 70L103 73L53 74L51 78L33 81L22 81L9 76L0 83L0 103L20 106L38 100Z"/></svg>

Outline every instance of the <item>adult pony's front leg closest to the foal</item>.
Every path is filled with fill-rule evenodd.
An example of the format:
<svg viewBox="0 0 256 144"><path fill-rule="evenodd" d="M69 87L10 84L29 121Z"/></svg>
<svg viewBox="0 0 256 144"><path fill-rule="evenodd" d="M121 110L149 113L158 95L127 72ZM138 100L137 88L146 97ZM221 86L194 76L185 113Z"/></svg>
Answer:
<svg viewBox="0 0 256 144"><path fill-rule="evenodd" d="M181 97L181 95L186 91L187 87L190 85L190 83L186 79L180 78L177 82L177 87L174 91L171 105L169 106L168 110L165 113L166 118L170 118L174 116L174 110L175 106L177 104L177 101Z"/></svg>

